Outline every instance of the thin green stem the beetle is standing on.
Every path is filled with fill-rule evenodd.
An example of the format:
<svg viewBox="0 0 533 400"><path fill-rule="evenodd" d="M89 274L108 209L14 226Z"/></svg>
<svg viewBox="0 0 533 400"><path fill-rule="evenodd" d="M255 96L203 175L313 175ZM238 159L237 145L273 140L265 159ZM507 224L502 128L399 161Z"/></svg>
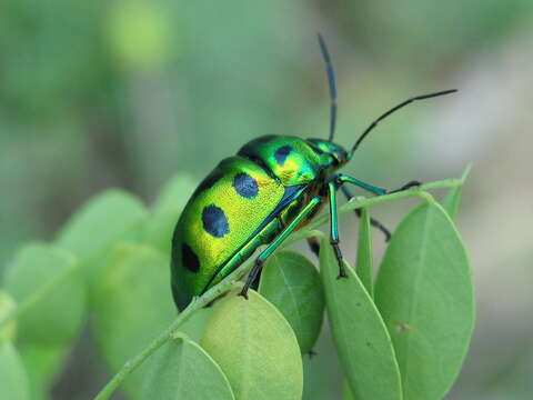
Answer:
<svg viewBox="0 0 533 400"><path fill-rule="evenodd" d="M356 198L355 201L350 201L349 203L339 208L339 213L345 213L353 209L361 207L369 207L372 204L379 204L388 201L405 199L405 198L425 198L430 201L433 201L433 198L425 190L432 189L443 189L443 188L456 188L462 186L464 182L463 179L446 179L442 181L436 181L432 183L422 184L420 188L414 188L401 192L395 192L391 194L379 196L374 198ZM306 238L310 236L320 236L322 232L314 230L321 224L328 221L328 216L322 216L311 223L305 226L304 229L292 234L285 240L285 242L293 243L296 240ZM285 244L285 243L284 243ZM209 304L211 301L217 299L220 294L227 292L231 289L235 281L247 272L250 268L249 263L243 263L235 271L233 271L227 279L222 280L219 284L208 290L203 296L194 298L193 301L178 316L178 318L167 328L167 330L161 333L155 340L153 340L144 350L137 354L133 359L124 363L119 372L105 384L105 387L97 394L93 400L107 400L109 397L117 390L117 388L122 383L122 381L133 372L147 358L153 354L161 346L173 338L174 331L185 322L194 311L201 309L202 307Z"/></svg>

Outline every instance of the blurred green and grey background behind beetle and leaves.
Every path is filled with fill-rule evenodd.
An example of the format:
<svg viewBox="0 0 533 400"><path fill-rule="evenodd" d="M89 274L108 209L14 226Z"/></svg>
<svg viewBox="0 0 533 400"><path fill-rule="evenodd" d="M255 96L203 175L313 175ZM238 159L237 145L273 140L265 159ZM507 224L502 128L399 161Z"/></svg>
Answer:
<svg viewBox="0 0 533 400"><path fill-rule="evenodd" d="M473 162L457 223L477 323L447 398L532 398L531 0L1 1L0 270L105 188L150 203L175 173L199 181L258 136L325 137L316 31L336 68L342 144L404 98L460 89L380 124L346 173L395 188ZM372 211L394 228L411 206ZM352 216L341 232L353 259ZM328 330L316 351L305 399L339 398ZM87 332L54 399L87 399L105 382L94 352Z"/></svg>

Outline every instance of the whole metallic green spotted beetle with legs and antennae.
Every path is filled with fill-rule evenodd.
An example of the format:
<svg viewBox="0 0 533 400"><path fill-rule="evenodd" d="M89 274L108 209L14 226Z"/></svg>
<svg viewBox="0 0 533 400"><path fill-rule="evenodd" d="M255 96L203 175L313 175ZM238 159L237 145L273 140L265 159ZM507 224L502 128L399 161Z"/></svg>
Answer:
<svg viewBox="0 0 533 400"><path fill-rule="evenodd" d="M455 89L410 98L375 119L351 150L333 142L336 123L336 86L330 52L318 36L330 92L329 138L301 139L264 136L245 143L235 156L222 160L199 184L185 204L172 237L171 286L174 302L185 308L194 296L220 282L261 246L266 248L255 262L239 294L258 278L266 258L294 230L308 223L329 202L330 242L339 261L339 278L346 277L339 248L336 191L351 193L346 183L382 196L419 186L410 181L388 191L338 170L353 157L375 126L402 107L416 100L455 92ZM356 210L360 216L360 210ZM389 231L376 220L386 239ZM310 240L318 253L319 244Z"/></svg>

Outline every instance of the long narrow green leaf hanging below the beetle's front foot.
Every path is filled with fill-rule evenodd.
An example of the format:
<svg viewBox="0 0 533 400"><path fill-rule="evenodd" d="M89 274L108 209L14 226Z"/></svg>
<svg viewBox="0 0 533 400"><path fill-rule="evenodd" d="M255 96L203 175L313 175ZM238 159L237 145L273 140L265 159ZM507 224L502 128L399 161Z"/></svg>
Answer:
<svg viewBox="0 0 533 400"><path fill-rule="evenodd" d="M400 372L391 338L372 299L345 263L339 263L328 240L320 247L325 306L339 359L356 399L402 399Z"/></svg>

